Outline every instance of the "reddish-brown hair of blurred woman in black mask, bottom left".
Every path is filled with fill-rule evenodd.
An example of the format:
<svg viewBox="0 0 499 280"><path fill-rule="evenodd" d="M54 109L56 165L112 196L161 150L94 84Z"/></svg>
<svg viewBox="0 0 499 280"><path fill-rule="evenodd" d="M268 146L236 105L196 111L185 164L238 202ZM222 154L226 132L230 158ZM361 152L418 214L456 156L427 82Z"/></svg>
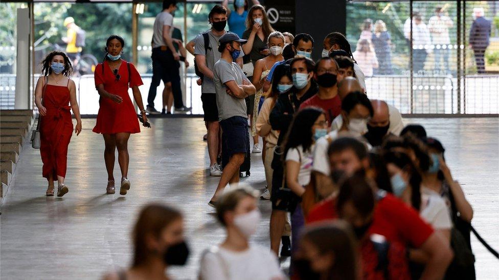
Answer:
<svg viewBox="0 0 499 280"><path fill-rule="evenodd" d="M182 214L174 208L164 205L150 204L142 208L139 219L133 227L133 267L138 267L148 260L153 253L147 246L147 238L151 235L160 238L161 232L173 221L181 219Z"/></svg>

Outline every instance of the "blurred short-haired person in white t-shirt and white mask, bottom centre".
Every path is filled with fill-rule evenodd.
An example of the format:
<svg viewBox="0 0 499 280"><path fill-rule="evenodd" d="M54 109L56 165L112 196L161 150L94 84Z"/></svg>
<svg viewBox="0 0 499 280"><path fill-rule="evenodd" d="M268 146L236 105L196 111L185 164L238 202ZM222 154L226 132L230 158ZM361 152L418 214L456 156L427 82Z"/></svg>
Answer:
<svg viewBox="0 0 499 280"><path fill-rule="evenodd" d="M266 248L250 245L261 219L257 196L251 187L231 189L220 196L217 219L225 227L226 238L202 253L199 279L284 279L276 256Z"/></svg>

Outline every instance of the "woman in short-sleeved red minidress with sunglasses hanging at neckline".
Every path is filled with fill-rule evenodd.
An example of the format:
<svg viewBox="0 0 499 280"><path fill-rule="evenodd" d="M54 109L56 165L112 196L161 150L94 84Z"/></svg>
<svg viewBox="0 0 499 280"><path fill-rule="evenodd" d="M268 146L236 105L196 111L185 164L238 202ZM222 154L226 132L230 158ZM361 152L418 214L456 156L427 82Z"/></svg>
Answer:
<svg viewBox="0 0 499 280"><path fill-rule="evenodd" d="M121 168L120 194L125 195L130 189L128 173L128 138L131 133L139 133L139 120L128 95L132 88L135 103L141 110L144 123L147 121L146 110L142 103L139 86L143 85L139 72L133 64L121 59L125 40L118 35L111 35L106 42L106 57L95 68L95 87L99 92L99 113L94 128L95 133L104 136L104 161L107 169L108 194L115 193L115 150L118 149L118 162ZM144 125L145 126L145 125Z"/></svg>

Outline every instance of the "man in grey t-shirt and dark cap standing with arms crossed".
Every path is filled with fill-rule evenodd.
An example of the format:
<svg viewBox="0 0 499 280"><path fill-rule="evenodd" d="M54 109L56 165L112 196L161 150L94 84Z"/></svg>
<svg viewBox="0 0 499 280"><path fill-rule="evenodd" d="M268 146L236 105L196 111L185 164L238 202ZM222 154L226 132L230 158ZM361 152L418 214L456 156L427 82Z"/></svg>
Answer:
<svg viewBox="0 0 499 280"><path fill-rule="evenodd" d="M208 205L215 207L227 184L239 183L239 167L250 154L250 134L244 98L255 94L255 86L234 62L241 54L241 40L235 33L225 33L218 40L220 60L213 68L213 82L218 106L218 120L222 129L223 172L217 190Z"/></svg>

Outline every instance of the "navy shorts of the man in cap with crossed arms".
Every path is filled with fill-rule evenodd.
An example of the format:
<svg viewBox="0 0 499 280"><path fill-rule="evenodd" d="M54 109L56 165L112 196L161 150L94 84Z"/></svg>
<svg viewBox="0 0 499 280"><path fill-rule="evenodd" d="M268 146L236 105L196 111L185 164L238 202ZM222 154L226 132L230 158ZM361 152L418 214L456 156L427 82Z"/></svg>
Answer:
<svg viewBox="0 0 499 280"><path fill-rule="evenodd" d="M234 154L250 154L248 119L241 116L220 121L222 129L222 168Z"/></svg>

